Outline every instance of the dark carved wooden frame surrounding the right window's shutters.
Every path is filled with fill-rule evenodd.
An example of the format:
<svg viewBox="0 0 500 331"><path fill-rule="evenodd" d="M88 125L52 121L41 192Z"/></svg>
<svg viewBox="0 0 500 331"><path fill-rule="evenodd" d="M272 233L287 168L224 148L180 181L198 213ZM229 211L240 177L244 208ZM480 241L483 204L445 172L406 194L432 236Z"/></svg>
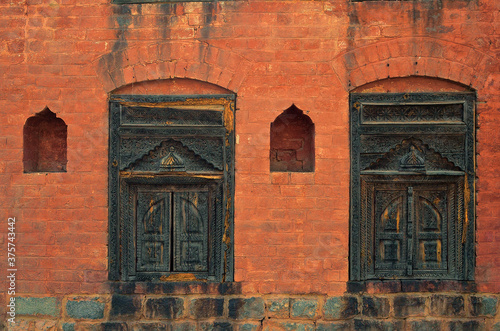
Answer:
<svg viewBox="0 0 500 331"><path fill-rule="evenodd" d="M351 94L351 286L348 287L359 289L356 284L380 280L427 283L435 280L473 281L475 99L472 92ZM405 163L409 159L412 161ZM442 241L449 252L448 255L443 253L448 259L444 262L448 265L441 265L440 271L415 272L412 266L418 263L412 261L414 254L408 254L408 251L405 254L410 261L405 261L405 270L401 268L397 271L396 264L386 263L384 266L384 263L379 263L377 271L375 260L380 260L380 256L377 256L376 247L381 247L374 244L377 236L380 239L380 234L374 230L377 225L373 224L379 222L373 206L376 200L373 192L377 185L383 190L384 185L397 189L398 185L409 188L434 184L438 187L435 190L448 185L451 192L447 191L451 201L447 200L448 209L451 209L451 219L447 220L450 225L443 231L446 238ZM413 188L408 190L408 195L412 196ZM405 206L413 206L412 198L404 199ZM460 211L453 210L455 206L459 206ZM370 216L370 213L375 216ZM415 215L414 212L408 214L410 221L415 222L411 219ZM416 230L412 228L415 225L405 226L409 229L407 236L414 236L407 241L408 247L414 249L411 245L417 240ZM402 250L397 252L401 254ZM395 266L393 271L391 266ZM385 267L388 272L383 271Z"/></svg>

